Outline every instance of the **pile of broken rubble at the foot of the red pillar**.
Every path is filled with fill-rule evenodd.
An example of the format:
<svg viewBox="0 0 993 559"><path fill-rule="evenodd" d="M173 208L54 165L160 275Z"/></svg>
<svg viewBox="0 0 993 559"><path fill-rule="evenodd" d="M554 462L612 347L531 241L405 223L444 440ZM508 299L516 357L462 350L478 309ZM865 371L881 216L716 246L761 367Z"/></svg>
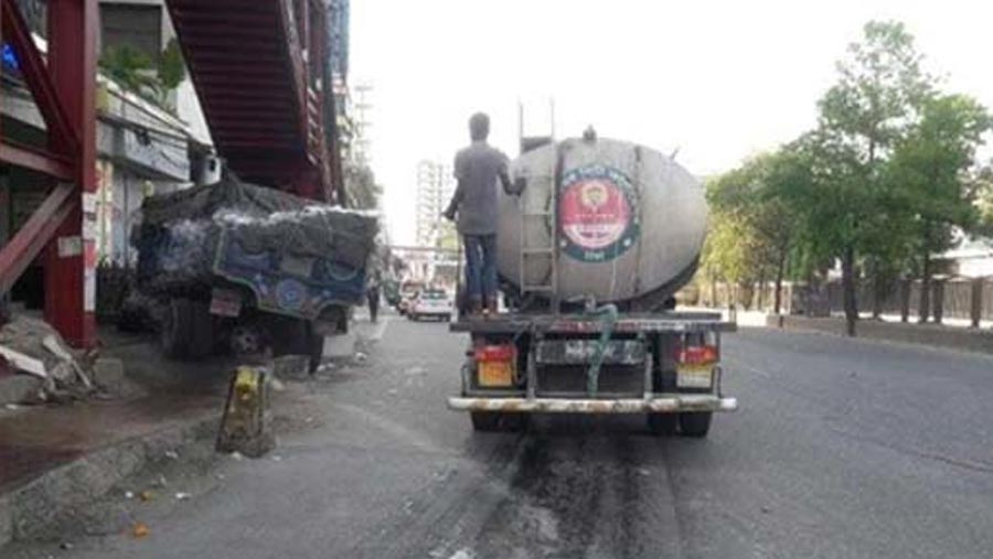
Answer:
<svg viewBox="0 0 993 559"><path fill-rule="evenodd" d="M17 316L0 327L0 358L7 369L42 380L40 401L73 400L93 393L86 357L44 321Z"/></svg>

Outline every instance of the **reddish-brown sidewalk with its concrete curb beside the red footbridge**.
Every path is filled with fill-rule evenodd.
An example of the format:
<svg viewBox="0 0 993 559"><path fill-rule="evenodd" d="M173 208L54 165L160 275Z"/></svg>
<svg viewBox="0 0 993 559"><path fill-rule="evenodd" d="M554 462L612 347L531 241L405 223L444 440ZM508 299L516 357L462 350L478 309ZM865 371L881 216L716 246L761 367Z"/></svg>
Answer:
<svg viewBox="0 0 993 559"><path fill-rule="evenodd" d="M124 363L125 397L0 408L0 548L216 433L228 361L170 362L148 336L100 340L102 354Z"/></svg>

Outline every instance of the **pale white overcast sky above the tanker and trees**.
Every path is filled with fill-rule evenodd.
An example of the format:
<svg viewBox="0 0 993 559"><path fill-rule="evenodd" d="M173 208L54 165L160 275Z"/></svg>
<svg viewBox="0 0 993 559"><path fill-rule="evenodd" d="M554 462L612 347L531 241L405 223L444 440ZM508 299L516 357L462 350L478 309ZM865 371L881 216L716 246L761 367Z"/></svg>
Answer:
<svg viewBox="0 0 993 559"><path fill-rule="evenodd" d="M350 82L373 87L372 166L393 243L414 238L416 165L450 162L469 116L492 144L592 125L696 175L816 122L835 63L869 20L903 21L942 88L993 108L993 2L974 0L352 0Z"/></svg>

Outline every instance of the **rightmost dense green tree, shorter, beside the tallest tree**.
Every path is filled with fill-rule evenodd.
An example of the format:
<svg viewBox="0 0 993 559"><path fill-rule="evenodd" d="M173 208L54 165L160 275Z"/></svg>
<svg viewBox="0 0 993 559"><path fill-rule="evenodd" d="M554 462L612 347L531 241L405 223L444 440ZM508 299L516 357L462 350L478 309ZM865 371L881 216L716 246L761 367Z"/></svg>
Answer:
<svg viewBox="0 0 993 559"><path fill-rule="evenodd" d="M920 121L897 143L887 164L887 178L914 223L909 238L920 261L920 322L930 313L931 255L951 247L955 227L970 232L981 223L979 193L968 171L991 125L974 99L935 96L923 103Z"/></svg>

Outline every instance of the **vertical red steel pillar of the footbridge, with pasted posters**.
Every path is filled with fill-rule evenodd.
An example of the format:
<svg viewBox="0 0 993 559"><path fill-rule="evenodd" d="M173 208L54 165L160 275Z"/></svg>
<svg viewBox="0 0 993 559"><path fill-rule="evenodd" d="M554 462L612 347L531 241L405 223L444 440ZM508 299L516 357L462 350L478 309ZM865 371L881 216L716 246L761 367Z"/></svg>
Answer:
<svg viewBox="0 0 993 559"><path fill-rule="evenodd" d="M73 345L95 340L96 245L84 238L84 196L96 191L96 0L49 1L47 67L58 99L79 138L74 158L75 207L49 244L45 260L45 320ZM64 152L56 143L51 148ZM92 207L86 209L93 211ZM88 228L93 230L93 228Z"/></svg>

